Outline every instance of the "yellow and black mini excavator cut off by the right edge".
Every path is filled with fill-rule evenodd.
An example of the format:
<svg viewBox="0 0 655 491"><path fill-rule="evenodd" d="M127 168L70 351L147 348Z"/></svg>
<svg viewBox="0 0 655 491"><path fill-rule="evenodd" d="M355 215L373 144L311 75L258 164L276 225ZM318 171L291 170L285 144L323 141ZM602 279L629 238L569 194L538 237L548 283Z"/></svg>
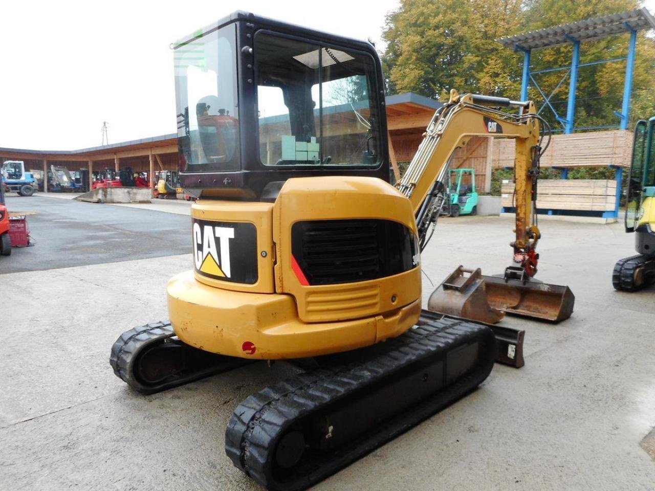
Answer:
<svg viewBox="0 0 655 491"><path fill-rule="evenodd" d="M635 234L637 255L620 259L612 285L637 291L655 282L655 117L635 126L627 185L626 232Z"/></svg>

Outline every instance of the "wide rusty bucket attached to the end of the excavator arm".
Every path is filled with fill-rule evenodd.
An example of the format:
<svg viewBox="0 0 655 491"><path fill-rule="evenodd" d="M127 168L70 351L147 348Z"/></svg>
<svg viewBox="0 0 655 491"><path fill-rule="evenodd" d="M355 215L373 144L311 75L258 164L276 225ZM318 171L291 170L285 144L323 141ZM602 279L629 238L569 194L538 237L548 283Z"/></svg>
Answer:
<svg viewBox="0 0 655 491"><path fill-rule="evenodd" d="M559 322L571 317L575 297L567 286L529 280L504 280L499 276L481 276L487 300L498 310L517 316Z"/></svg>

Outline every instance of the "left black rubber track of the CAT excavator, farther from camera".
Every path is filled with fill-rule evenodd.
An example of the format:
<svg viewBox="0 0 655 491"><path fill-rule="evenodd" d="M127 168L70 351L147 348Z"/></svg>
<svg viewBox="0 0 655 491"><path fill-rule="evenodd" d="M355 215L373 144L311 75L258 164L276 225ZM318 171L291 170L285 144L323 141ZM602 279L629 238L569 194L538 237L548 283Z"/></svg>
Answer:
<svg viewBox="0 0 655 491"><path fill-rule="evenodd" d="M150 394L178 387L194 380L250 363L250 360L214 355L185 345L186 349L197 352L198 357L204 357L207 362L201 367L196 367L196 371L174 375L168 378L168 380L156 384L145 384L141 382L134 374L141 352L152 344L164 342L167 338L174 336L175 331L168 320L134 327L134 329L122 333L113 346L111 346L109 364L113 368L116 376L126 382L132 389L141 393ZM172 340L172 342L183 344L178 339Z"/></svg>

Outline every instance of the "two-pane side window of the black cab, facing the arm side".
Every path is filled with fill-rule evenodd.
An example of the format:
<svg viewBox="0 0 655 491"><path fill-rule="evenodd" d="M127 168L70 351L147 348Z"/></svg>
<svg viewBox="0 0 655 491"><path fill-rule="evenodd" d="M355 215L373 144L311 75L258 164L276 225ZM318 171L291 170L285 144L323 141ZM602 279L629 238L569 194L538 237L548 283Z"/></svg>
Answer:
<svg viewBox="0 0 655 491"><path fill-rule="evenodd" d="M267 32L254 50L263 164L379 164L371 56Z"/></svg>

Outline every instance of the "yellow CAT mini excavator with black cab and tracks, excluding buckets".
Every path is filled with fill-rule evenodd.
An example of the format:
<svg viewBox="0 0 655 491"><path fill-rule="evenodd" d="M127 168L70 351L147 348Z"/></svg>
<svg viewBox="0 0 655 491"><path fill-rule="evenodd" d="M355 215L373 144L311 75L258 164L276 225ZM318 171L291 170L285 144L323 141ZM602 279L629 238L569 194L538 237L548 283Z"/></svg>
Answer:
<svg viewBox="0 0 655 491"><path fill-rule="evenodd" d="M252 360L297 365L234 410L225 451L267 489L304 489L490 373L501 340L489 326L421 309L421 249L448 156L473 135L516 139L531 172L517 203L531 202L538 116L453 92L394 187L371 44L236 12L175 47L193 270L168 283L170 321L123 333L110 362L143 393ZM523 282L539 232L517 217Z"/></svg>

